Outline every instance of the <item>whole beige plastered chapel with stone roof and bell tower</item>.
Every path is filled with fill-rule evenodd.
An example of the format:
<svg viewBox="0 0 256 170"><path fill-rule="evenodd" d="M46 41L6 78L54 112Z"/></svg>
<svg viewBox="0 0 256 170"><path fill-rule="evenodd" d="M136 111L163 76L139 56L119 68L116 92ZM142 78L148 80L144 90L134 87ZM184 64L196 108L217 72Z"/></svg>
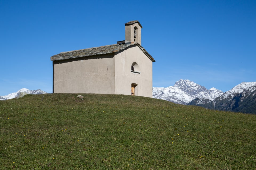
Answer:
<svg viewBox="0 0 256 170"><path fill-rule="evenodd" d="M125 23L125 40L52 56L53 93L152 97L154 58L141 45L142 25Z"/></svg>

